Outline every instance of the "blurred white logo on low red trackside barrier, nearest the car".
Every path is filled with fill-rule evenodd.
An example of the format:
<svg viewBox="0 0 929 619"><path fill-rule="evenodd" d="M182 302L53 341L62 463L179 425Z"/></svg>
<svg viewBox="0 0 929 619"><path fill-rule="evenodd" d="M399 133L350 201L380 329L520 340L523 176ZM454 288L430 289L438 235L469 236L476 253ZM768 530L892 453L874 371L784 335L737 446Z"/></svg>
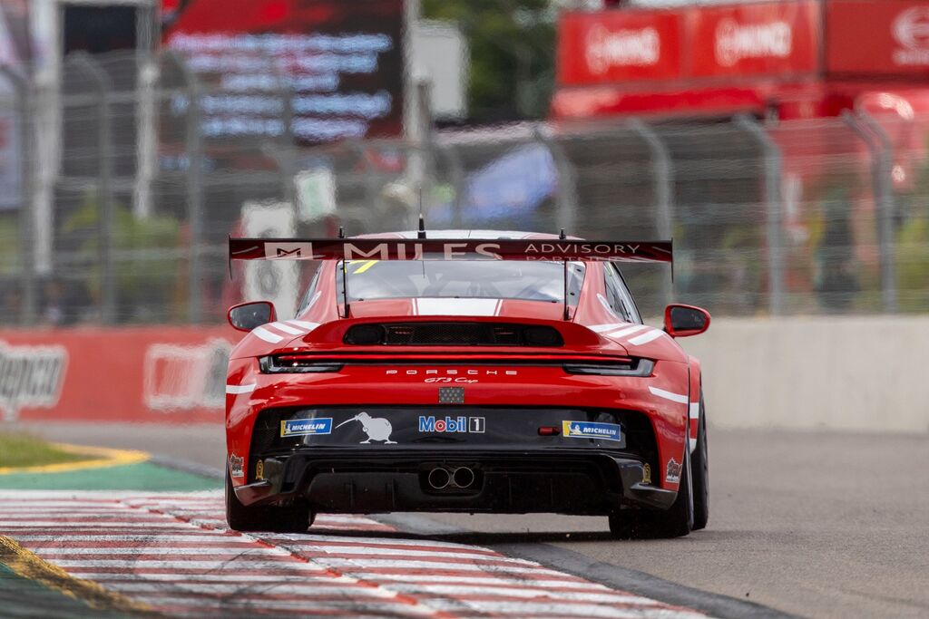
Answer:
<svg viewBox="0 0 929 619"><path fill-rule="evenodd" d="M222 408L231 350L221 338L199 346L151 344L142 365L145 405L158 411Z"/></svg>

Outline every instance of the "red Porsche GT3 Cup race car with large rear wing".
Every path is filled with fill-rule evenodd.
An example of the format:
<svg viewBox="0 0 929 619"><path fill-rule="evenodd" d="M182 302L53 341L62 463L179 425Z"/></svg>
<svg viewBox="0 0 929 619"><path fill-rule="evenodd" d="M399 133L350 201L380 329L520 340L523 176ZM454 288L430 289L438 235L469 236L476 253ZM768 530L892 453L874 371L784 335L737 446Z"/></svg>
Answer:
<svg viewBox="0 0 929 619"><path fill-rule="evenodd" d="M618 263L668 241L429 231L229 239L230 259L321 260L294 320L242 303L226 387L229 526L317 512L607 515L619 537L707 522L707 329L642 323Z"/></svg>

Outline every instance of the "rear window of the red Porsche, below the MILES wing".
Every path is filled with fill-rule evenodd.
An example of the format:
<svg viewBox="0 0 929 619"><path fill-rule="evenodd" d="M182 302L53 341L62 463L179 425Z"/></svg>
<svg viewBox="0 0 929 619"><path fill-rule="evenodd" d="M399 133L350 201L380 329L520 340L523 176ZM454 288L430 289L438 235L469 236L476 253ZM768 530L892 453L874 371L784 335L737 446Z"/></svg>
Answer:
<svg viewBox="0 0 929 619"><path fill-rule="evenodd" d="M581 294L585 267L568 264L569 304ZM524 299L564 303L564 267L554 262L503 260L354 260L347 264L348 300L444 297ZM342 295L342 264L335 281Z"/></svg>

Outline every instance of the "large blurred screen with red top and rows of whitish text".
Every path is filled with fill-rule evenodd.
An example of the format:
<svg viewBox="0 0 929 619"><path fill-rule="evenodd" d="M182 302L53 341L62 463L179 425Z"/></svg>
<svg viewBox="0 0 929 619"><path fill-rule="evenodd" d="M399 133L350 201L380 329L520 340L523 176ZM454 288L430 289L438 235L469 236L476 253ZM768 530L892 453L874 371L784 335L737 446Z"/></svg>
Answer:
<svg viewBox="0 0 929 619"><path fill-rule="evenodd" d="M400 134L403 0L189 0L164 19L203 82L206 138Z"/></svg>

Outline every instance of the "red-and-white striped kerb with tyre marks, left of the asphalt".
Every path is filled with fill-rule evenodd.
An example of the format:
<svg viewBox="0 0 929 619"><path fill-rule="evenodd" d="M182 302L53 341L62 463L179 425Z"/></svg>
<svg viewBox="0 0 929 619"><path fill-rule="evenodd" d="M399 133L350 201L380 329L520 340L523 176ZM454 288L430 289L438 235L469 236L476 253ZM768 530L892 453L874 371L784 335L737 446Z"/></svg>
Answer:
<svg viewBox="0 0 929 619"><path fill-rule="evenodd" d="M0 535L0 563L84 601L85 616L708 616L359 516L238 534L219 491L2 490Z"/></svg>

